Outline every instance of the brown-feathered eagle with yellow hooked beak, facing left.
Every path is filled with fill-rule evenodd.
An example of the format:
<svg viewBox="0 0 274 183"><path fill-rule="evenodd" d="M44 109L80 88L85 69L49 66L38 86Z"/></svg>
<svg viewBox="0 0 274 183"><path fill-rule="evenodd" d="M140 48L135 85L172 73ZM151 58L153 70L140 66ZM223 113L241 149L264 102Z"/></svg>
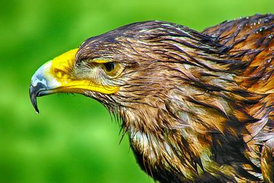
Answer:
<svg viewBox="0 0 274 183"><path fill-rule="evenodd" d="M274 14L203 32L164 21L119 27L46 62L36 97L79 93L119 119L158 182L274 182Z"/></svg>

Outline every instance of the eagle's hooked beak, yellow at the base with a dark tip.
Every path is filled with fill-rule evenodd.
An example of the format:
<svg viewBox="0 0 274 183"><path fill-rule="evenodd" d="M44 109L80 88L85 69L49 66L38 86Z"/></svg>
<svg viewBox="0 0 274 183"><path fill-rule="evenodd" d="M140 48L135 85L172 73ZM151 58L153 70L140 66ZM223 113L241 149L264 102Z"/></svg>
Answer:
<svg viewBox="0 0 274 183"><path fill-rule="evenodd" d="M52 93L81 93L87 90L103 94L116 93L118 86L102 86L95 81L79 79L73 76L75 56L78 49L67 51L46 62L34 73L29 86L29 97L37 113L39 113L36 97Z"/></svg>

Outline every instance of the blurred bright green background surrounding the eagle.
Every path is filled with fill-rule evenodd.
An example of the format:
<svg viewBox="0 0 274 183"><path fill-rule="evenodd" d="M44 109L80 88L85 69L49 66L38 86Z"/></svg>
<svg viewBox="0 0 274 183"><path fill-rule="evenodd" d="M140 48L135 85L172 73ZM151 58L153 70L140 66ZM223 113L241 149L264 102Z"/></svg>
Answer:
<svg viewBox="0 0 274 183"><path fill-rule="evenodd" d="M45 61L86 38L127 23L163 20L193 29L274 12L273 0L1 1L0 182L153 182L119 126L81 95L29 101L30 78Z"/></svg>

